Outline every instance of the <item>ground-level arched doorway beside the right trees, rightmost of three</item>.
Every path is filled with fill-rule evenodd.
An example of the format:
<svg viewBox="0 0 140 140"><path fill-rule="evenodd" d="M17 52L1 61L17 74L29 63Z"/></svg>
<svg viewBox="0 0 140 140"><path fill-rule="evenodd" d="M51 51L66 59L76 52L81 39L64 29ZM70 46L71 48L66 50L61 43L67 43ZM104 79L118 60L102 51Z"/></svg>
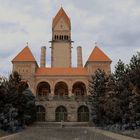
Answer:
<svg viewBox="0 0 140 140"><path fill-rule="evenodd" d="M86 106L81 106L78 108L77 112L78 122L88 122L89 121L89 109Z"/></svg>

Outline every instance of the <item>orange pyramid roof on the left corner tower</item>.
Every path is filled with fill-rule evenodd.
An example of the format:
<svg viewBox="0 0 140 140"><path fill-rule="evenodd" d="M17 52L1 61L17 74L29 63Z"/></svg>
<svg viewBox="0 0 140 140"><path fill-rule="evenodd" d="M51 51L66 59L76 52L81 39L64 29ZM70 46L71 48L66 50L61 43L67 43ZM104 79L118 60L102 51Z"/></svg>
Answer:
<svg viewBox="0 0 140 140"><path fill-rule="evenodd" d="M16 61L21 61L21 62L26 62L26 61L30 61L30 62L35 62L35 58L31 52L31 50L29 49L28 46L26 46L13 60L12 62L16 62Z"/></svg>

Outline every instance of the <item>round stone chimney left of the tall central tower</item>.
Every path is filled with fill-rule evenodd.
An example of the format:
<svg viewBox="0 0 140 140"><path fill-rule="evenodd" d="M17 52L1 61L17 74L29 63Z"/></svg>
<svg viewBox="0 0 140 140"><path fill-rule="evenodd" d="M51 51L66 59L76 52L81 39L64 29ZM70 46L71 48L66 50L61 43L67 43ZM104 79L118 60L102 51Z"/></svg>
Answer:
<svg viewBox="0 0 140 140"><path fill-rule="evenodd" d="M44 68L46 66L46 47L41 47L41 58L40 58L40 67Z"/></svg>

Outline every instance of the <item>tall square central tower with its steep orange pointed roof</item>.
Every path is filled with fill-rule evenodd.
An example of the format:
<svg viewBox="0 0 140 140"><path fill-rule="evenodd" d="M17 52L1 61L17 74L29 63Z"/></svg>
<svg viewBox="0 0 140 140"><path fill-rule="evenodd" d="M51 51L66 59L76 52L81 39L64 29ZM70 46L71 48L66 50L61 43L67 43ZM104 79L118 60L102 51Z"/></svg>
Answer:
<svg viewBox="0 0 140 140"><path fill-rule="evenodd" d="M51 67L71 67L71 23L61 8L52 23Z"/></svg>

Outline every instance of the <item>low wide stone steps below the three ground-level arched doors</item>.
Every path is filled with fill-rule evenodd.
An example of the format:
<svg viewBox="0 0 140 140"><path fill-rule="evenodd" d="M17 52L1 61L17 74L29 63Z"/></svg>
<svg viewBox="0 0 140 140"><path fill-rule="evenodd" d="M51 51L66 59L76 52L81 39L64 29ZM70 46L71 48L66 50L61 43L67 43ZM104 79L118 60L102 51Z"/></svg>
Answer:
<svg viewBox="0 0 140 140"><path fill-rule="evenodd" d="M89 122L64 122L64 127L89 127ZM61 122L35 122L30 127L62 127Z"/></svg>

